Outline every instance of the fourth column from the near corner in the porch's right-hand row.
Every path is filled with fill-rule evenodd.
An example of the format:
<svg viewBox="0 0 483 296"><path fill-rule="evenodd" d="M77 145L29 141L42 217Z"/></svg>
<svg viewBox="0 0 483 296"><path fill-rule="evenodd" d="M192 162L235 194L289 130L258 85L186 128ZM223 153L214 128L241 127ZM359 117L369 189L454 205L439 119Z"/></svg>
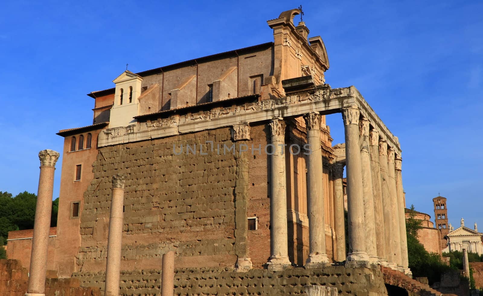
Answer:
<svg viewBox="0 0 483 296"><path fill-rule="evenodd" d="M395 214L399 216L396 212L396 204L391 200L391 193L389 190L389 175L387 174L387 142L386 140L379 140L379 168L381 171L381 194L383 199L383 215L384 215L384 238L386 244L386 256L388 260L388 266L391 269L397 268L396 260L396 249L400 248L396 244L394 239L394 233L398 231L399 228L396 226Z"/></svg>

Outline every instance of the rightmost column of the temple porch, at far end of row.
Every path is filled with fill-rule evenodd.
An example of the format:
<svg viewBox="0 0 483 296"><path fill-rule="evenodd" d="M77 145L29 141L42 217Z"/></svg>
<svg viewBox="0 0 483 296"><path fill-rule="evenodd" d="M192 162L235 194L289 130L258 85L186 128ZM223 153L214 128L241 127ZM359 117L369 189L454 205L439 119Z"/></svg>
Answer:
<svg viewBox="0 0 483 296"><path fill-rule="evenodd" d="M408 260L408 238L406 234L406 214L404 213L404 190L402 188L402 159L396 158L396 189L398 190L399 233L401 238L401 261L404 273L412 274Z"/></svg>

